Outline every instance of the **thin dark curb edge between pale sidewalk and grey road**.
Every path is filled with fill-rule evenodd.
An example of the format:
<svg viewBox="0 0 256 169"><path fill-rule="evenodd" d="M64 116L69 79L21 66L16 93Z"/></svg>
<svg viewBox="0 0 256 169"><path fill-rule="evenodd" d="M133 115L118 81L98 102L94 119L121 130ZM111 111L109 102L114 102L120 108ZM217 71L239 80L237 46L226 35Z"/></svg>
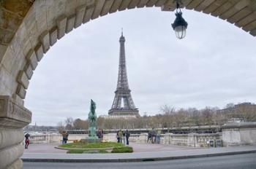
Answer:
<svg viewBox="0 0 256 169"><path fill-rule="evenodd" d="M256 153L256 150L240 151L240 152L221 152L214 154L195 154L187 156L172 156L172 157L142 157L142 158L129 158L129 159L43 159L43 158L21 158L23 162L148 162L148 161L160 161L160 160L179 160L189 158L200 158L200 157L217 157L225 155L236 155L236 154L249 154Z"/></svg>

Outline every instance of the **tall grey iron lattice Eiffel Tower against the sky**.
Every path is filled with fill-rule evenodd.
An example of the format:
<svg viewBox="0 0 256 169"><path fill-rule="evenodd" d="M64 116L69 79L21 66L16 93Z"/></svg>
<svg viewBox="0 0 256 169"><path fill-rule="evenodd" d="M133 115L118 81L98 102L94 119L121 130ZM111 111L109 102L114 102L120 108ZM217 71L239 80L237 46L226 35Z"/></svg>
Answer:
<svg viewBox="0 0 256 169"><path fill-rule="evenodd" d="M125 63L124 52L124 36L121 32L120 42L120 55L119 55L119 67L118 67L118 82L116 87L116 95L111 109L108 111L109 115L126 116L135 115L139 117L139 110L135 107L135 103L132 101L131 90L129 90L128 78L127 78L127 66Z"/></svg>

